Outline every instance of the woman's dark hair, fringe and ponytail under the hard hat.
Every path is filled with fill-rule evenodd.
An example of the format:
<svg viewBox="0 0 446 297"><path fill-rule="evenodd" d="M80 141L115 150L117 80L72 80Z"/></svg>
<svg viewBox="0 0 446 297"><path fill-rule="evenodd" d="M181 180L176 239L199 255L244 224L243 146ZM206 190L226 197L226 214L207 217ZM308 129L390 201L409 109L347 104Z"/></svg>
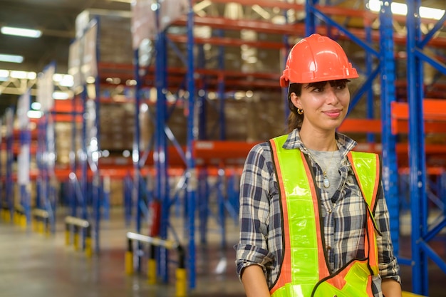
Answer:
<svg viewBox="0 0 446 297"><path fill-rule="evenodd" d="M326 83L330 83L332 87L336 86L346 86L350 80L341 79L341 80L329 80L329 81L318 81L316 83L308 83L305 88L323 88ZM288 87L288 108L291 111L288 117L288 132L293 131L294 129L300 129L302 127L302 123L304 122L304 115L299 115L297 113L297 108L291 102L291 93L296 93L297 96L300 96L302 93L302 85L303 83L290 83Z"/></svg>

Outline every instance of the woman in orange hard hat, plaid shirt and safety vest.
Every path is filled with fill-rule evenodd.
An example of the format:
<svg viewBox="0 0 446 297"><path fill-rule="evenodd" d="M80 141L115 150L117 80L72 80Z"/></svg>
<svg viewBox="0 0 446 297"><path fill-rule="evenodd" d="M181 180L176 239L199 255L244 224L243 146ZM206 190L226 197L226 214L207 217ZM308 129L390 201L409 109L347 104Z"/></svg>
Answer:
<svg viewBox="0 0 446 297"><path fill-rule="evenodd" d="M401 296L380 159L336 132L353 78L326 36L289 53L289 134L254 146L242 174L235 248L248 297Z"/></svg>

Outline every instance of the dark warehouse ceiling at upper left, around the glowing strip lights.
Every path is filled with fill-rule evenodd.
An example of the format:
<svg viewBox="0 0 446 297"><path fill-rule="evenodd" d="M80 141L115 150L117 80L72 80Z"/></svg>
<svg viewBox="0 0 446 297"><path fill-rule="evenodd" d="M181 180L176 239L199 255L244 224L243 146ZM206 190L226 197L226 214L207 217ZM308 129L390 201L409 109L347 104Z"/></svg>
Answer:
<svg viewBox="0 0 446 297"><path fill-rule="evenodd" d="M75 37L76 16L85 9L98 13L130 11L130 0L0 0L0 26L42 31L40 38L0 33L0 53L24 57L23 63L0 61L0 69L38 73L49 63L56 62L56 73L67 73L68 48ZM1 83L0 115L5 108L15 104L19 95L14 91L2 92ZM13 89L11 84L9 89Z"/></svg>

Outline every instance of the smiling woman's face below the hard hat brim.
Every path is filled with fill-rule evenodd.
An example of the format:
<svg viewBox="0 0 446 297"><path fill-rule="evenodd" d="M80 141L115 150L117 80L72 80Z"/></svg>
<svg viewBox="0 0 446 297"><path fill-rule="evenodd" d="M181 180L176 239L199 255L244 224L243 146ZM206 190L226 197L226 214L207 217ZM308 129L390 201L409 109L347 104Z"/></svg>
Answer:
<svg viewBox="0 0 446 297"><path fill-rule="evenodd" d="M300 96L291 93L291 101L304 110L303 129L335 130L346 117L350 103L347 80L306 83Z"/></svg>

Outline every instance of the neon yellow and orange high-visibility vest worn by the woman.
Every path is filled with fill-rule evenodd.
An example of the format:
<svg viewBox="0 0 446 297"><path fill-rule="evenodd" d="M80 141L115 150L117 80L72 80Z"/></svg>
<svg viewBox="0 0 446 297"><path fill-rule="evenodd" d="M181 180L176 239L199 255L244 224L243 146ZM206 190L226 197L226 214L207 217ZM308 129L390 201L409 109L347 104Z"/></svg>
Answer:
<svg viewBox="0 0 446 297"><path fill-rule="evenodd" d="M378 275L376 224L372 209L380 184L378 155L349 152L359 187L367 204L365 259L353 259L335 273L328 269L318 193L301 150L282 146L287 135L270 140L276 168L284 254L279 276L270 288L274 297L370 297L372 276ZM371 207L371 209L370 209Z"/></svg>

